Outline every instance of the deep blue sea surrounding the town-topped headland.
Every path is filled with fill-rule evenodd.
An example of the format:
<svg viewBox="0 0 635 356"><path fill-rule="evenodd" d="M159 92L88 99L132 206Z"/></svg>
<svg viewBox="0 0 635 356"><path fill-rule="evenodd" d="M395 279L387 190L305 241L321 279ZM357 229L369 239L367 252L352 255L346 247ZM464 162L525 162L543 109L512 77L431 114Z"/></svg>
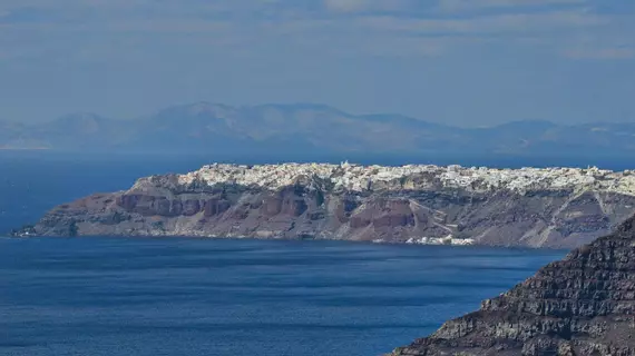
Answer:
<svg viewBox="0 0 635 356"><path fill-rule="evenodd" d="M475 310L566 254L343 241L2 237L65 201L212 161L1 152L0 355L380 355ZM404 164L380 164L390 162ZM606 168L624 169L619 165Z"/></svg>

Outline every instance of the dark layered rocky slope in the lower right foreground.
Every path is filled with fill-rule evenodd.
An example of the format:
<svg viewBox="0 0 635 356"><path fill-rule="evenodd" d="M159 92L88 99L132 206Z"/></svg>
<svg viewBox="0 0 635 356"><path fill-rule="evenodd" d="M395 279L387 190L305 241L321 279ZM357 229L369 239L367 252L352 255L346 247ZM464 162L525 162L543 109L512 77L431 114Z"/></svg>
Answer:
<svg viewBox="0 0 635 356"><path fill-rule="evenodd" d="M635 218L391 355L635 355Z"/></svg>

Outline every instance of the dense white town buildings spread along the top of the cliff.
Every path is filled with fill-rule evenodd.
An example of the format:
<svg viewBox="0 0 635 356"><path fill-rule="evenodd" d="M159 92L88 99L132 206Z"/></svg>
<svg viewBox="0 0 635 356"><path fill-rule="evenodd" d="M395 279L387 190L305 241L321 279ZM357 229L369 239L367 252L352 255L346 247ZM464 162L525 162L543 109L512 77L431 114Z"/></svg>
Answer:
<svg viewBox="0 0 635 356"><path fill-rule="evenodd" d="M302 178L329 181L335 190L423 189L440 184L444 188L468 190L509 189L593 189L635 195L635 172L615 172L597 167L583 168L520 168L408 165L360 166L343 162L282 164L263 166L209 165L197 171L180 175L183 185L203 181L207 185L235 184L257 186L272 190L295 184Z"/></svg>

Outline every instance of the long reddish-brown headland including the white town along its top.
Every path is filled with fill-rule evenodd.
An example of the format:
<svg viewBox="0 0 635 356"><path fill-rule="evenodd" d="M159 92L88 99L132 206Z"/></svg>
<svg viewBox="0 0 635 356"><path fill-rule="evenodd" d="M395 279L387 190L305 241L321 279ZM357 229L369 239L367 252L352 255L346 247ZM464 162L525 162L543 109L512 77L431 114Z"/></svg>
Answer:
<svg viewBox="0 0 635 356"><path fill-rule="evenodd" d="M631 171L212 165L61 205L14 235L565 247L605 235L633 214Z"/></svg>

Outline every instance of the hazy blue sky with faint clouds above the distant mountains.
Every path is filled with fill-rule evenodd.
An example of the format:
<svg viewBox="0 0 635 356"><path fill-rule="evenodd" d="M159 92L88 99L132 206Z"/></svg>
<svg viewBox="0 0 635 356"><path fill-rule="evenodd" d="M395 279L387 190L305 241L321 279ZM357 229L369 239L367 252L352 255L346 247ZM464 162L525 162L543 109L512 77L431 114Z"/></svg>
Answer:
<svg viewBox="0 0 635 356"><path fill-rule="evenodd" d="M0 120L202 100L635 122L635 1L0 1Z"/></svg>

